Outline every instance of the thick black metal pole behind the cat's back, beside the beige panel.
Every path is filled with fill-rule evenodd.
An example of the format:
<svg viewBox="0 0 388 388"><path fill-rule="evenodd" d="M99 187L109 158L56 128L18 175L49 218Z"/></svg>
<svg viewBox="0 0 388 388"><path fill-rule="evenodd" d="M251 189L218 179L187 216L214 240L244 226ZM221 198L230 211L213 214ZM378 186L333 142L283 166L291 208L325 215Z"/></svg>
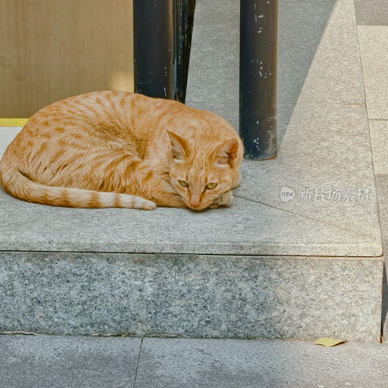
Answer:
<svg viewBox="0 0 388 388"><path fill-rule="evenodd" d="M174 98L174 0L133 0L134 89Z"/></svg>

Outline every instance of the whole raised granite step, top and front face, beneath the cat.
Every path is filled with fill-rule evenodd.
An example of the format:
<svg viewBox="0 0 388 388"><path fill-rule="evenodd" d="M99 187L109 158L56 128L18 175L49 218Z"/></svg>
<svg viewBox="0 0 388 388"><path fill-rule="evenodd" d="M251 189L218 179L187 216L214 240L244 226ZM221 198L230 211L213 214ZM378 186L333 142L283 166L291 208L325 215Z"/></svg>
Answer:
<svg viewBox="0 0 388 388"><path fill-rule="evenodd" d="M238 2L197 0L187 94L235 128L238 23ZM279 28L278 157L243 163L231 208L67 209L0 191L0 331L379 341L353 0L280 1ZM0 155L18 130L0 129Z"/></svg>

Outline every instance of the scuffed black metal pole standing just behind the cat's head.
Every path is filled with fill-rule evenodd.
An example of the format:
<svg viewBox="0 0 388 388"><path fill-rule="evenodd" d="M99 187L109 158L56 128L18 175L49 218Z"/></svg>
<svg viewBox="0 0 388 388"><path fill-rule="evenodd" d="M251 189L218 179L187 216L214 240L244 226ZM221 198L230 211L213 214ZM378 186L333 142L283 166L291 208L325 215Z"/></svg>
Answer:
<svg viewBox="0 0 388 388"><path fill-rule="evenodd" d="M240 135L246 159L276 157L278 0L240 0Z"/></svg>

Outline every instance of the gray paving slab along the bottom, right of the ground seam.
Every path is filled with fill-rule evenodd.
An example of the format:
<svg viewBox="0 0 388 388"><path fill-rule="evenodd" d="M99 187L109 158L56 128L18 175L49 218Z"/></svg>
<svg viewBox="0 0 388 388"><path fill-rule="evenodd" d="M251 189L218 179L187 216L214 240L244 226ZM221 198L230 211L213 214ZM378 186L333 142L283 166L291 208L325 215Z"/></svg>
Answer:
<svg viewBox="0 0 388 388"><path fill-rule="evenodd" d="M279 340L143 340L135 388L385 388L388 347Z"/></svg>

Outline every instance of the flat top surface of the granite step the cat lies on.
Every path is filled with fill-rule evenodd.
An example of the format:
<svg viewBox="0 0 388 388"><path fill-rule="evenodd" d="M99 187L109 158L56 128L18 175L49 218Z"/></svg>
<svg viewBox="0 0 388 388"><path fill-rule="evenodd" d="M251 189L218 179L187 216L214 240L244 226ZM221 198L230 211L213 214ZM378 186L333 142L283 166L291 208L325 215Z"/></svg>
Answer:
<svg viewBox="0 0 388 388"><path fill-rule="evenodd" d="M205 108L208 100L200 97L207 96L236 119L239 6L233 0L222 4L197 1L188 101ZM231 208L52 208L0 190L0 250L380 256L353 2L285 2L280 21L279 96L289 99L281 97L279 106L278 157L243 163ZM207 39L199 44L201 36ZM205 61L201 55L210 49L217 54ZM0 151L12 136L0 133ZM283 187L294 191L293 200L282 202ZM349 200L330 200L335 189L340 195L351 191ZM356 200L358 189L368 190L363 201ZM312 196L305 200L303 191ZM316 191L323 196L315 197Z"/></svg>

